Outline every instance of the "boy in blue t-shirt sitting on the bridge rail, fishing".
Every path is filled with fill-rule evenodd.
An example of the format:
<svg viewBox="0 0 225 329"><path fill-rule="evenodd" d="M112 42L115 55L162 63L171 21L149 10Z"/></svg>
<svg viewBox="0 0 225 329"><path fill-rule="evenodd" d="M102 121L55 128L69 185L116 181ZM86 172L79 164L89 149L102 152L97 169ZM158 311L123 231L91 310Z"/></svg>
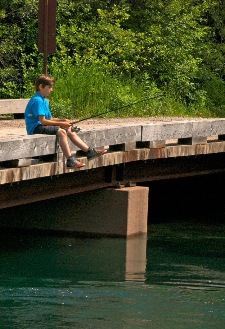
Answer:
<svg viewBox="0 0 225 329"><path fill-rule="evenodd" d="M75 132L71 132L71 120L52 117L45 97L49 96L52 92L54 83L54 79L45 74L40 74L36 78L36 94L29 100L24 113L27 134L57 135L59 137L60 147L67 158L67 168L83 167L85 164L80 163L79 160L71 154L67 136L72 143L74 143L74 145L86 152L86 157L88 160L99 157L107 152L107 150L99 151L95 148L87 146Z"/></svg>

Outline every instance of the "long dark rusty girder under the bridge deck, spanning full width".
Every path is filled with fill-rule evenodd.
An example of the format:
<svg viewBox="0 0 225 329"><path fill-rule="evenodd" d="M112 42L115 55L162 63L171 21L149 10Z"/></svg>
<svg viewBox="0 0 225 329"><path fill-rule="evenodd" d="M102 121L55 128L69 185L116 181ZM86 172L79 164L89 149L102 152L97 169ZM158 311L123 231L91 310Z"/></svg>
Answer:
<svg viewBox="0 0 225 329"><path fill-rule="evenodd" d="M192 145L189 146L193 147ZM180 145L178 147L182 148L184 146ZM142 155L145 153L145 150L136 151L138 151L137 153L140 157L140 153L142 153ZM150 150L148 150L148 152L149 151ZM155 149L152 151L155 151ZM117 153L121 153L121 157L122 154L125 154L127 160L129 158L129 153L133 153L133 151ZM126 163L125 166L120 165L123 167L123 177L121 177L123 181L121 180L121 184L127 183L127 181L144 182L225 172L224 163L224 154L219 153L213 155L208 154L204 158L203 156L196 158L192 156L189 158L164 158L157 159L156 161L131 161ZM54 164L51 165L54 166ZM28 179L18 184L0 185L0 209L115 185L117 181L115 180L115 173L119 167L117 165L110 167L113 170L111 171L111 179L109 180L106 180L107 168L101 167L93 171L72 171L52 177L37 177L36 180ZM16 170L21 169L24 168Z"/></svg>

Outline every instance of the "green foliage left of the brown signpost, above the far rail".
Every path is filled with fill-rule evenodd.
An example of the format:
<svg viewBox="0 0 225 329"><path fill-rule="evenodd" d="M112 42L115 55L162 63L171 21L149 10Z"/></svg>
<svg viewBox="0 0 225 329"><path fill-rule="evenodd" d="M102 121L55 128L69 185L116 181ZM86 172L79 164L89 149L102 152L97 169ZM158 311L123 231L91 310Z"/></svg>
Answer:
<svg viewBox="0 0 225 329"><path fill-rule="evenodd" d="M30 72L38 70L34 40L37 38L37 1L3 0L0 4L0 98L18 98Z"/></svg>

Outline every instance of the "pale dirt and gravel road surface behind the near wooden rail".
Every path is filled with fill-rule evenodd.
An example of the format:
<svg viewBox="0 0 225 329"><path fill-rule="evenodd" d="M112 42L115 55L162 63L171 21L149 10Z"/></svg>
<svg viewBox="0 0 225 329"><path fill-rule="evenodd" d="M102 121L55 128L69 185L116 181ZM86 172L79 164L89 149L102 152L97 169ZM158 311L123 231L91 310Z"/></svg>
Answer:
<svg viewBox="0 0 225 329"><path fill-rule="evenodd" d="M180 120L197 120L200 118L189 117L160 117L150 116L147 118L117 118L117 119L89 119L78 123L82 129L92 127L104 127L123 124L142 124L150 122L168 122ZM201 118L202 119L202 118ZM13 119L12 117L0 116L0 138L11 138L27 135L24 119Z"/></svg>

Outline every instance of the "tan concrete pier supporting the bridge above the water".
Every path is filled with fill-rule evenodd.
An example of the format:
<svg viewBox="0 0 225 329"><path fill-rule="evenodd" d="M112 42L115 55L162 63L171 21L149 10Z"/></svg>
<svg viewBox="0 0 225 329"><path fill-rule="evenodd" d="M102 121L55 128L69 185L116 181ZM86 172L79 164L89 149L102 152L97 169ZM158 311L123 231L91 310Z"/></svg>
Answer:
<svg viewBox="0 0 225 329"><path fill-rule="evenodd" d="M66 197L55 230L132 237L147 232L148 187L107 188Z"/></svg>

